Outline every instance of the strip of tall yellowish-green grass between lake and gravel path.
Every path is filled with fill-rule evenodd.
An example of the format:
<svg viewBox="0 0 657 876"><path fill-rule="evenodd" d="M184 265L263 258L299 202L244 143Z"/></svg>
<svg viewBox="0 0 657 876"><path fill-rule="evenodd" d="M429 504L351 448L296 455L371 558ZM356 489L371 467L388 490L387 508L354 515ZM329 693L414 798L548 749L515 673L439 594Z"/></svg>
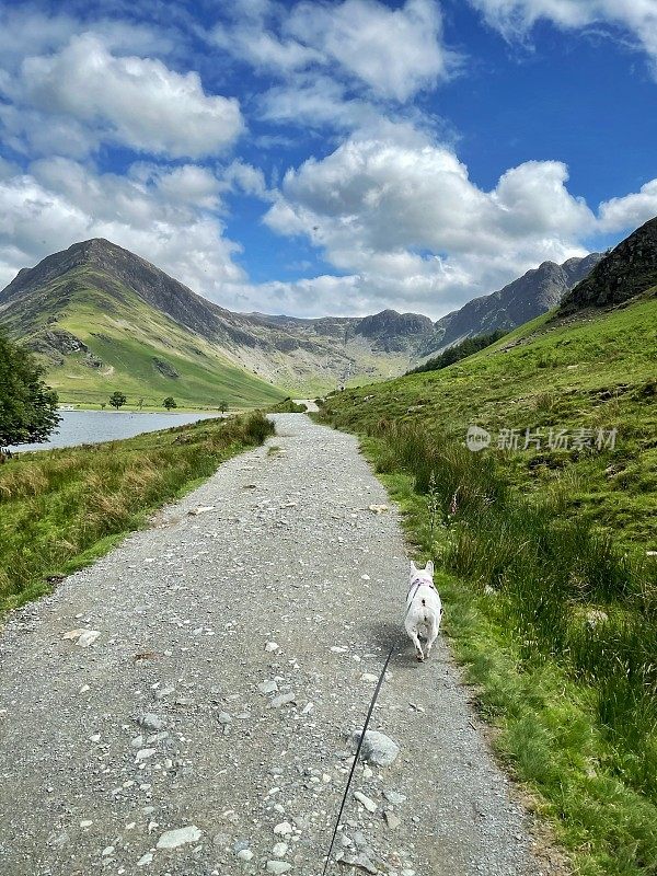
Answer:
<svg viewBox="0 0 657 876"><path fill-rule="evenodd" d="M149 511L273 431L256 412L125 441L19 454L0 465L0 610L46 592L48 577L103 552Z"/></svg>

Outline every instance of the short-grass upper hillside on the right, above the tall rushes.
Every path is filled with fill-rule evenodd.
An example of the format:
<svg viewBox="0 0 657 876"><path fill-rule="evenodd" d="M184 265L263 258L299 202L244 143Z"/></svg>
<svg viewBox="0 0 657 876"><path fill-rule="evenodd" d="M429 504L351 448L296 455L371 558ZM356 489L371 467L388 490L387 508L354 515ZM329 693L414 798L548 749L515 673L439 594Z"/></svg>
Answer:
<svg viewBox="0 0 657 876"><path fill-rule="evenodd" d="M614 451L531 449L500 454L502 461L529 491L567 469L572 511L626 545L657 550L656 325L654 295L581 321L540 316L450 368L331 396L327 410L341 427L362 431L381 419L407 420L459 442L470 425L486 428L494 441L502 428L519 429L522 440L527 428L544 436L551 426L570 435L618 428Z"/></svg>

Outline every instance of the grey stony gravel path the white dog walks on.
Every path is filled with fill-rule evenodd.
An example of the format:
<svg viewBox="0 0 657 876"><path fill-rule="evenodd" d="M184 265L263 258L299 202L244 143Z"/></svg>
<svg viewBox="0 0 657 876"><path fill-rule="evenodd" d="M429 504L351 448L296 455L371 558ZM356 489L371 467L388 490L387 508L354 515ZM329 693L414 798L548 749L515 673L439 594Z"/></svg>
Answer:
<svg viewBox="0 0 657 876"><path fill-rule="evenodd" d="M549 872L445 645L413 659L401 530L368 510L388 499L356 440L276 424L280 451L224 463L8 622L3 876L319 876L394 642L371 728L400 753L358 765L332 876Z"/></svg>

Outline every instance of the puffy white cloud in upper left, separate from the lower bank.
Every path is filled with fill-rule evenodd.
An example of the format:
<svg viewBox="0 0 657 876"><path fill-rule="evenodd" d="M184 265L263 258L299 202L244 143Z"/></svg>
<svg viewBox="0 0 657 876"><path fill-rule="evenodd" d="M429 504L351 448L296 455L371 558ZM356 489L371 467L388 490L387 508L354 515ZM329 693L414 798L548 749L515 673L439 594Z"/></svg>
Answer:
<svg viewBox="0 0 657 876"><path fill-rule="evenodd" d="M65 154L80 155L85 146L110 140L154 154L199 158L224 150L244 127L238 101L207 95L196 72L177 73L152 58L114 56L92 34L73 36L56 54L26 58L9 96L16 105L14 116L4 119L11 132L26 134L35 148L54 118L62 140L71 128L73 148L62 143Z"/></svg>

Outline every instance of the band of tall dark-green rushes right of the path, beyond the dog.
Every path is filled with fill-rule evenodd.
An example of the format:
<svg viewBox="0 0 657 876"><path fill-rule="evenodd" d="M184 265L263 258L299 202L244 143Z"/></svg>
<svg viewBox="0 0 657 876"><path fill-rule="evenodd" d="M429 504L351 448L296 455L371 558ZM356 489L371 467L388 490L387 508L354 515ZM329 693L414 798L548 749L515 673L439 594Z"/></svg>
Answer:
<svg viewBox="0 0 657 876"><path fill-rule="evenodd" d="M556 660L588 685L614 769L657 793L657 564L621 553L589 522L564 518L560 489L507 488L493 454L413 424L380 423L381 472L402 470L438 508L433 552L479 592L497 593L527 665Z"/></svg>

